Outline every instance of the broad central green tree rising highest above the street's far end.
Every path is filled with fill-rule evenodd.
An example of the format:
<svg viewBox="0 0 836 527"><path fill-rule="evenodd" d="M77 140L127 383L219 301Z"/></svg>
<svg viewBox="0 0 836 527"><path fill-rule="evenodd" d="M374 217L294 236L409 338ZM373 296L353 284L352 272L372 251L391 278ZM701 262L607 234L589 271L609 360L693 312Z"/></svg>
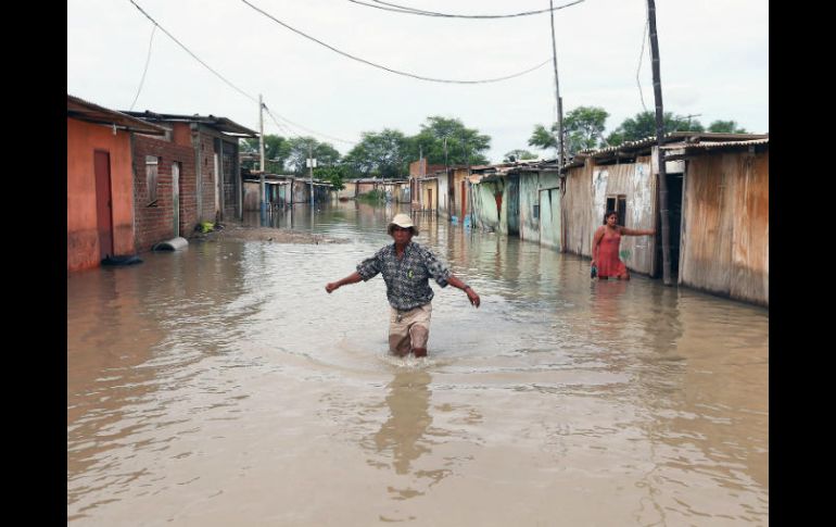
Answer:
<svg viewBox="0 0 836 527"><path fill-rule="evenodd" d="M446 149L445 149L446 143ZM420 153L428 164L448 165L486 164L483 154L491 148L491 136L467 128L458 118L440 115L427 117L421 130L408 138L407 159L417 160Z"/></svg>

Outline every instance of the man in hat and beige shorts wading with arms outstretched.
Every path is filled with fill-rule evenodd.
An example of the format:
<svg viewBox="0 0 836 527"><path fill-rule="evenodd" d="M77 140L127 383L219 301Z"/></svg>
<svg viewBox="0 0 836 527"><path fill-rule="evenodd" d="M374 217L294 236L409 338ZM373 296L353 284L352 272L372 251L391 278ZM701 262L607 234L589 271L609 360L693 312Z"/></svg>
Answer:
<svg viewBox="0 0 836 527"><path fill-rule="evenodd" d="M364 260L355 273L328 284L325 290L330 293L347 284L366 281L382 273L387 283L387 298L392 306L389 316L389 350L398 356L405 356L409 351L415 356L427 356L432 314L430 301L433 297L430 277L441 287L449 284L461 289L477 308L480 303L479 294L456 278L432 251L413 241L418 229L408 215L395 215L387 231L395 240L393 244Z"/></svg>

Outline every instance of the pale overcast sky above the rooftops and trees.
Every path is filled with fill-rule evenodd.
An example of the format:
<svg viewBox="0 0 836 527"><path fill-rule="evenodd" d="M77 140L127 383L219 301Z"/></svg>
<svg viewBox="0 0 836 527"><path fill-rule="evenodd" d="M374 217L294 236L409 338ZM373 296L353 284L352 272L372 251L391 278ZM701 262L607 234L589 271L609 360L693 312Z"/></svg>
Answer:
<svg viewBox="0 0 836 527"><path fill-rule="evenodd" d="M67 92L113 110L212 114L254 130L262 95L273 113L264 115L265 134L313 136L342 154L364 131L414 135L441 115L491 136L492 162L514 149L553 156L528 146L534 126L556 116L547 12L479 20L350 0L248 1L345 53L418 76L489 79L546 63L497 83L432 83L347 59L242 0L134 0L225 81L161 28L152 30L130 0L68 0ZM387 1L454 14L548 8L547 0ZM656 18L666 112L768 133L769 2L657 0ZM646 23L646 0L584 0L555 12L563 115L580 105L604 108L609 133L655 109Z"/></svg>

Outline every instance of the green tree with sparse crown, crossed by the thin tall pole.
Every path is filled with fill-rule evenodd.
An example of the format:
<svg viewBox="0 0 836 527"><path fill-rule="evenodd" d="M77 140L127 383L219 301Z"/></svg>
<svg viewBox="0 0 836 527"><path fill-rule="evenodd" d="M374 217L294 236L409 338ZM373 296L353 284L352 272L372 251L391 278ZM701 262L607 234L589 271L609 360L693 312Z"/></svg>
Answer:
<svg viewBox="0 0 836 527"><path fill-rule="evenodd" d="M603 146L607 117L609 113L599 106L578 106L567 113L563 118L563 147L567 155L572 156L581 150ZM529 138L529 146L557 150L557 123L550 130L536 125Z"/></svg>

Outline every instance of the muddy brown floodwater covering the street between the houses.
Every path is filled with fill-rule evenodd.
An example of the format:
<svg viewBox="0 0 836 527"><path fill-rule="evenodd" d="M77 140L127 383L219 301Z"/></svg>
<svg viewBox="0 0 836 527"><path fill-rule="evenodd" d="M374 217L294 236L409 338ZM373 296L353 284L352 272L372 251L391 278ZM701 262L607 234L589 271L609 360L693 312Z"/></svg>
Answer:
<svg viewBox="0 0 836 527"><path fill-rule="evenodd" d="M276 224L350 242L71 274L68 520L769 524L768 310L418 216L482 306L433 284L404 362L382 278L325 292L395 212L296 206Z"/></svg>

